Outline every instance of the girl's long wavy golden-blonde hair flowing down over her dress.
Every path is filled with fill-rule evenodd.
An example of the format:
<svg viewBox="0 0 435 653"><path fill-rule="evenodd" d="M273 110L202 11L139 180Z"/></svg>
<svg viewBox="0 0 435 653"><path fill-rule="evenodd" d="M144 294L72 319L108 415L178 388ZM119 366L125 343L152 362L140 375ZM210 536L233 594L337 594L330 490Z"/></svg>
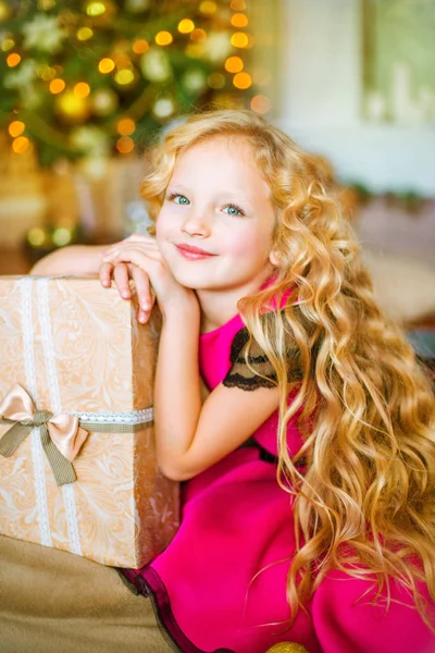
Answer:
<svg viewBox="0 0 435 653"><path fill-rule="evenodd" d="M142 195L157 218L176 157L222 135L252 145L276 211L274 283L244 298L239 309L278 380L277 480L293 495L297 535L287 579L293 618L338 569L375 578L387 596L398 580L428 623L419 584L424 581L435 600L433 392L412 347L376 304L337 187L315 157L264 119L221 110L196 114L166 135ZM275 319L261 320L263 307L288 296L288 288ZM290 404L288 336L303 373ZM304 435L294 458L291 419ZM301 456L304 475L296 466Z"/></svg>

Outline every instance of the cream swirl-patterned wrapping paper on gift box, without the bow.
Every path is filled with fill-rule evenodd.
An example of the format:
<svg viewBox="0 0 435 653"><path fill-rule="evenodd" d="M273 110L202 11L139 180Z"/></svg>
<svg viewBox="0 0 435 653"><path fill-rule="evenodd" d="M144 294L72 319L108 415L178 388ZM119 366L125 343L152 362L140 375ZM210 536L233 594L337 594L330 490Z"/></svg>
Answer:
<svg viewBox="0 0 435 653"><path fill-rule="evenodd" d="M179 497L156 460L157 341L156 319L139 325L97 280L0 278L0 399L17 383L36 409L75 415L89 432L72 483L58 485L39 427L0 456L1 533L120 567L170 543ZM0 438L9 429L0 423Z"/></svg>

